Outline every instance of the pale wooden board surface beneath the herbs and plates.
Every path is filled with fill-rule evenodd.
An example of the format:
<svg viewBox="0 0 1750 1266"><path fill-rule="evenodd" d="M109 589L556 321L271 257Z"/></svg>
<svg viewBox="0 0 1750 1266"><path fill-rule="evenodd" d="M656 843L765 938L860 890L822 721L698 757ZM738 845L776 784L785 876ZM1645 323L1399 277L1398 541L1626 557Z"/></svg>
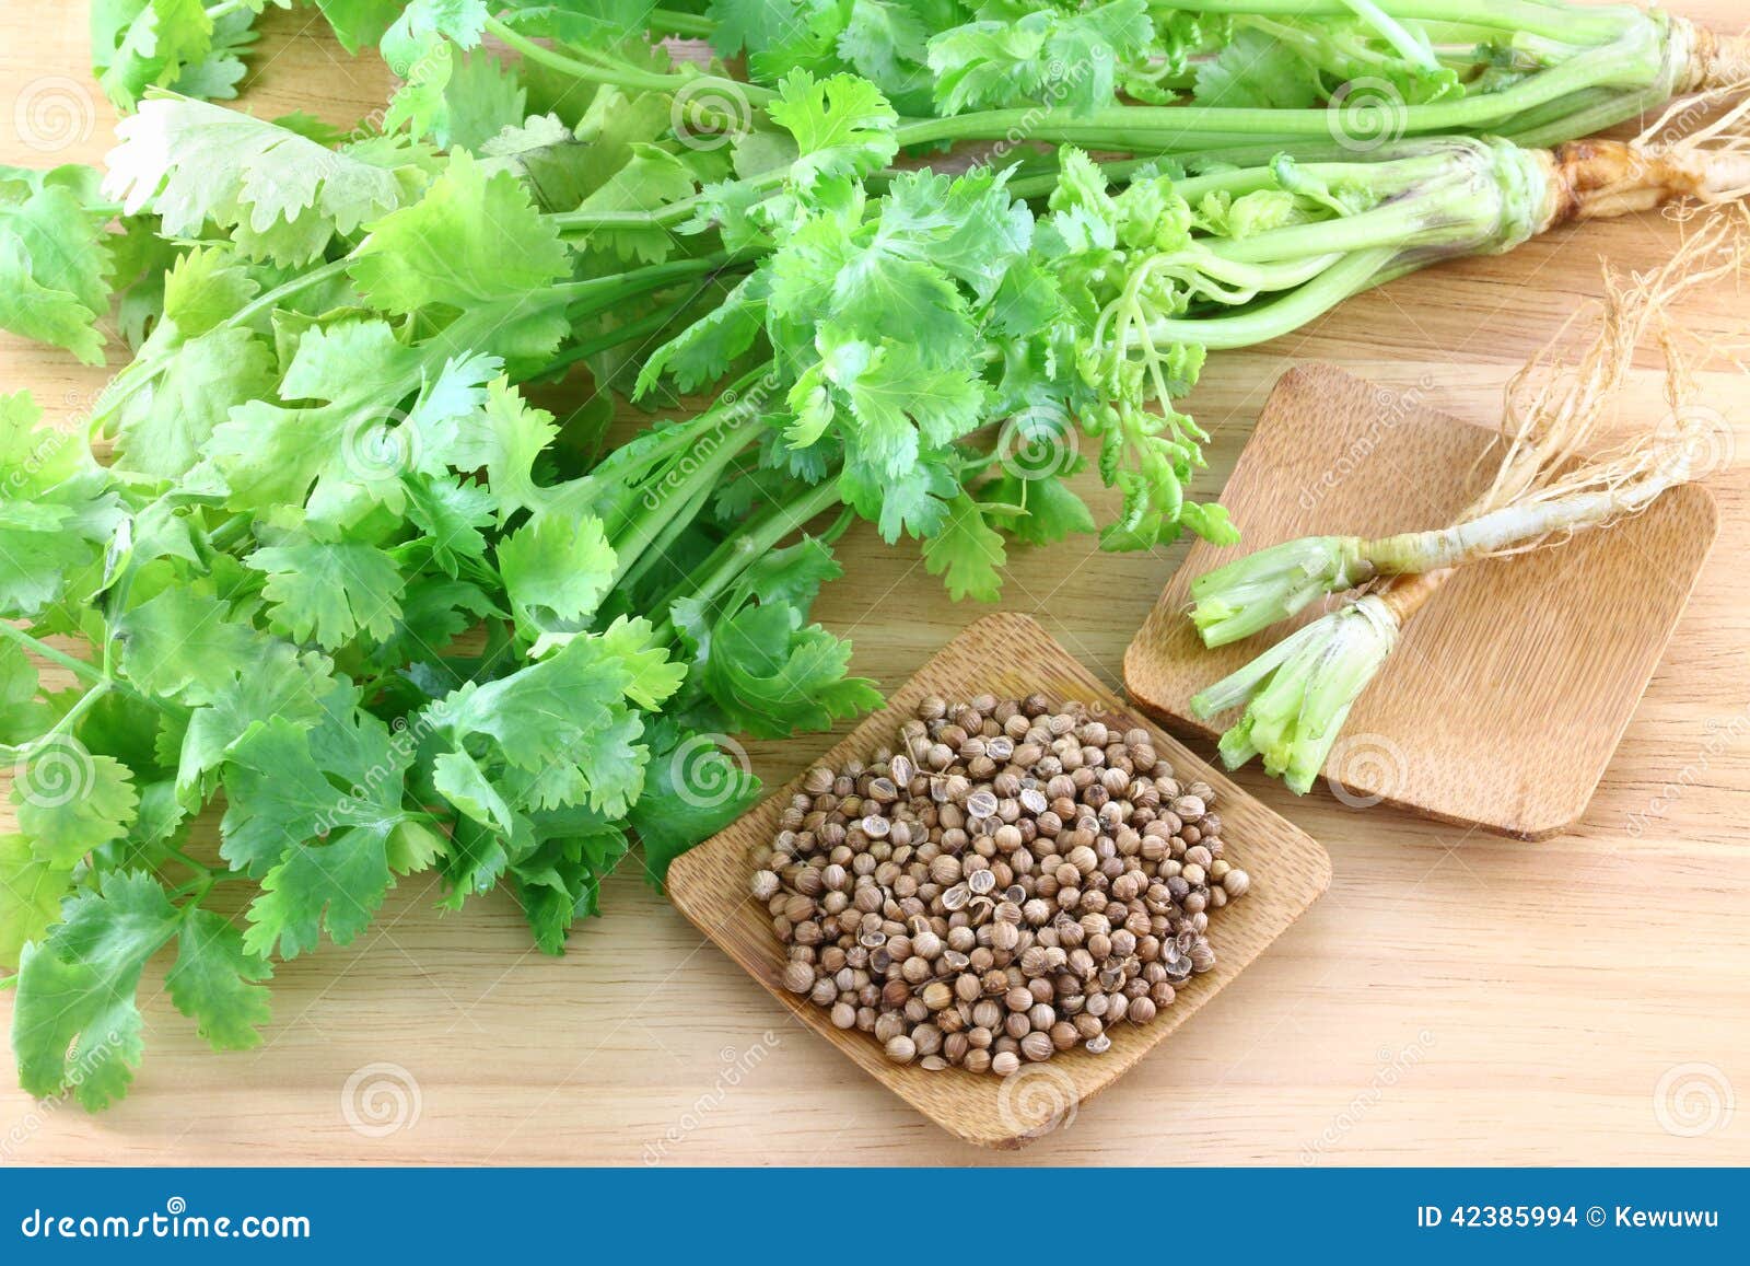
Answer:
<svg viewBox="0 0 1750 1266"><path fill-rule="evenodd" d="M1720 30L1745 21L1740 0L1680 7ZM252 107L341 124L378 109L382 68L315 39L312 23L304 11L270 14ZM16 126L47 98L74 109L74 144L54 152ZM0 161L96 161L112 123L89 81L86 7L4 0ZM1278 345L1213 357L1190 401L1214 431L1202 487L1220 489L1297 361L1496 418L1512 369L1596 294L1598 256L1645 268L1675 238L1656 215L1564 231L1405 278ZM1726 289L1685 313L1724 334L1750 305ZM0 383L30 387L68 426L102 382L61 354L0 340ZM1750 1094L1750 410L1741 383L1717 385L1740 436L1738 461L1713 483L1720 541L1586 821L1521 844L1325 793L1292 802L1242 776L1328 848L1332 890L1194 1024L1026 1152L956 1143L847 1077L838 1052L625 874L562 960L530 951L509 897L439 916L436 890L406 883L355 946L280 970L276 1021L254 1054L206 1052L149 988L147 1063L103 1117L33 1105L0 1054L0 1161L1746 1164L1750 1105L1726 1105ZM1657 408L1650 375L1643 397ZM872 532L852 532L842 557L854 580L830 588L817 615L887 685L984 615L950 604L915 553ZM1004 606L1036 615L1116 683L1181 557L1111 557L1085 541L1024 553ZM824 746L749 751L782 781ZM0 993L0 1021L9 1010ZM418 1114L383 1131L354 1107L360 1131L343 1093L355 1077L355 1094L376 1084L380 1065L416 1084ZM374 1103L392 1124L392 1096Z"/></svg>

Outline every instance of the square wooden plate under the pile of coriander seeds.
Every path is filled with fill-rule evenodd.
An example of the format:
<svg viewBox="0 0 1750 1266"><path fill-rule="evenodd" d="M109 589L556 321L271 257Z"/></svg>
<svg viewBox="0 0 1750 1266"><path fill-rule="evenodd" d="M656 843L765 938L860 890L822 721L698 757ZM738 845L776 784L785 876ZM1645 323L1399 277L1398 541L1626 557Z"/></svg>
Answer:
<svg viewBox="0 0 1750 1266"><path fill-rule="evenodd" d="M1020 697L1032 690L1043 690L1054 702L1080 699L1096 711L1139 723L1134 711L1076 664L1034 620L992 615L948 643L892 693L887 707L864 720L822 760L833 763L868 756L878 746L891 746L900 725L926 695L952 700L982 692ZM784 991L777 979L784 967L784 947L772 932L765 907L747 893L752 876L749 851L777 833L779 812L796 791L796 783L681 855L668 869L668 895L700 932L746 967L779 1003L926 1117L971 1143L1022 1147L1054 1129L1076 1103L1106 1089L1150 1047L1183 1024L1330 884L1330 858L1311 837L1241 791L1178 741L1152 725L1146 728L1155 734L1158 755L1181 781L1202 779L1216 788L1222 837L1228 848L1225 856L1246 869L1251 888L1242 900L1209 919L1216 967L1186 981L1178 1000L1150 1024L1116 1026L1106 1054L1069 1051L1048 1063L1027 1065L1008 1079L959 1068L901 1068L882 1056L868 1033L840 1031L821 1007Z"/></svg>

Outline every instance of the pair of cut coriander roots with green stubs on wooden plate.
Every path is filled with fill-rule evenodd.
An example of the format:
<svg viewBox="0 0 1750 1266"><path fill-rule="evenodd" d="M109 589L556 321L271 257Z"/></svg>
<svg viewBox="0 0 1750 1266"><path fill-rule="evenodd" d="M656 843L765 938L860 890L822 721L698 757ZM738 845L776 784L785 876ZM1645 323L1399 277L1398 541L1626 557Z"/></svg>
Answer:
<svg viewBox="0 0 1750 1266"><path fill-rule="evenodd" d="M1325 594L1367 587L1192 699L1206 718L1244 709L1222 735L1230 769L1262 756L1269 774L1306 793L1404 625L1456 567L1608 525L1704 473L1710 436L1689 410L1694 378L1678 355L1670 306L1696 285L1736 275L1745 250L1738 217L1717 215L1662 270L1633 278L1606 271L1605 310L1586 354L1572 364L1540 357L1514 380L1516 426L1505 454L1489 487L1451 527L1286 541L1192 585L1192 620L1209 646L1246 637ZM1666 354L1670 424L1626 448L1587 455L1648 334Z"/></svg>

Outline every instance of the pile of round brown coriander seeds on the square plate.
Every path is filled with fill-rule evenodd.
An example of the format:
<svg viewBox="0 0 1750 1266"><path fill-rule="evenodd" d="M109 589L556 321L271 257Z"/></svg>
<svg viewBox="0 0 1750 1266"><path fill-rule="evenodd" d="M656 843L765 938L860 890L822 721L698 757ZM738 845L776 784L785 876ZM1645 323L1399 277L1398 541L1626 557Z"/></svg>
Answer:
<svg viewBox="0 0 1750 1266"><path fill-rule="evenodd" d="M782 984L894 1063L1015 1073L1111 1047L1214 967L1244 895L1206 783L1045 695L924 699L896 751L817 765L754 851Z"/></svg>

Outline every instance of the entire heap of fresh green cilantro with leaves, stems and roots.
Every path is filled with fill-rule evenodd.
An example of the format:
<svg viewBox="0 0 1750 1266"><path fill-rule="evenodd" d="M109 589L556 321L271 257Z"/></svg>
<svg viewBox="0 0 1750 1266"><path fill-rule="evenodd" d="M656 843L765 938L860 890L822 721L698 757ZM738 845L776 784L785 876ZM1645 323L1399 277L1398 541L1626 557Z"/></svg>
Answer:
<svg viewBox="0 0 1750 1266"><path fill-rule="evenodd" d="M1519 4L1516 33L1388 0L1311 25L1183 4L1132 49L1082 28L1124 5L1040 7L1013 39L943 5L914 14L929 75L906 89L830 30L900 12L866 0L821 5L814 54L737 5L324 0L406 77L341 137L187 95L234 82L259 7L173 30L105 5L103 84L136 107L107 173L0 172L0 326L100 362L114 310L133 350L88 436L0 403L0 961L23 1084L93 1108L126 1093L166 946L173 1003L248 1047L271 961L352 940L397 877L434 872L450 907L508 886L553 953L634 839L660 881L756 795L730 735L878 700L808 622L854 518L980 599L1012 543L1096 529L1083 464L1122 490L1104 548L1232 541L1185 496L1204 436L1172 408L1206 348L1750 184L1732 126L1531 144L1724 77L1726 46L1659 16ZM765 82L670 65L665 32L752 49ZM1466 37L1494 51L1463 61ZM1232 49L1258 40L1246 89ZM1003 61L1074 49L1097 91ZM1363 67L1402 79L1402 140L1346 133L1332 81ZM1113 103L1181 81L1246 107ZM1017 112L1078 144L900 165ZM1514 121L1526 144L1466 135ZM518 390L579 364L681 417L600 452L600 404L560 424ZM220 800L214 853L194 819Z"/></svg>

